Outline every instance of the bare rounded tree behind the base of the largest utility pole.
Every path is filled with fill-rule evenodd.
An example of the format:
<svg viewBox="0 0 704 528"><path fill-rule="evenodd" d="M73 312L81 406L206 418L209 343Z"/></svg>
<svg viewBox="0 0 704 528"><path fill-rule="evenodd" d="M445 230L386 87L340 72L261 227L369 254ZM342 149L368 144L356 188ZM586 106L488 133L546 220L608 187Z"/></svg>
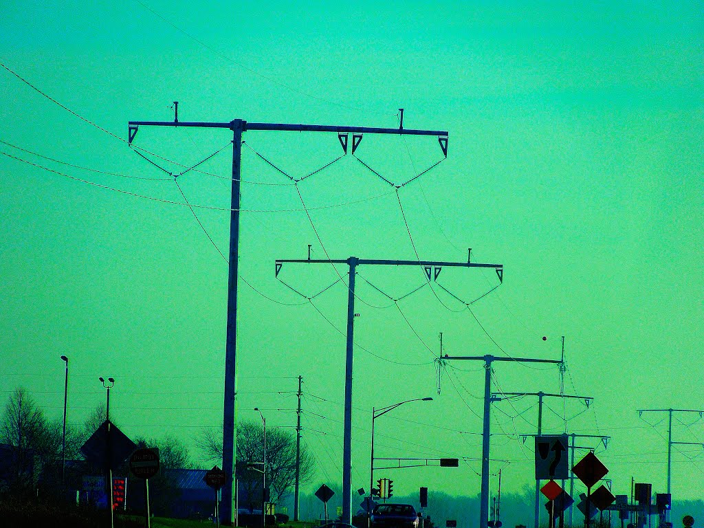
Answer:
<svg viewBox="0 0 704 528"><path fill-rule="evenodd" d="M262 461L264 434L259 422L243 420L237 424L237 478L249 492L258 489L261 474L246 470L246 465ZM210 462L222 463L222 428L203 429L196 445ZM315 473L315 460L301 444L300 484L307 484ZM286 429L268 427L266 431L266 482L271 501L282 501L296 482L296 436Z"/></svg>

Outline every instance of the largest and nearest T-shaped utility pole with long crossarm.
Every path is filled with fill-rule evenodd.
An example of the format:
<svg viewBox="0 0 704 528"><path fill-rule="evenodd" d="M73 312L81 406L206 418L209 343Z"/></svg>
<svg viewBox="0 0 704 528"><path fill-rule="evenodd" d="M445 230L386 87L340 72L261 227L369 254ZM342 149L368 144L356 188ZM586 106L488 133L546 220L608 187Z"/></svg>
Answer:
<svg viewBox="0 0 704 528"><path fill-rule="evenodd" d="M403 115L403 114L402 114ZM362 139L362 134L398 134L415 136L437 136L441 149L447 156L448 132L444 130L413 130L403 128L403 119L398 128L341 127L328 125L291 125L286 123L247 122L234 119L227 122L179 121L130 121L127 140L132 144L139 126L221 128L232 132L232 194L230 212L230 273L227 287L227 338L225 344L225 405L222 417L222 470L227 482L222 486L222 512L226 524L234 522L233 484L235 466L235 398L237 396L237 264L239 261L239 199L242 134L248 130L272 130L278 132L337 132L340 144L347 152L348 134L352 135L352 153ZM349 517L349 516L348 516ZM347 517L345 517L347 518ZM351 517L347 522L351 521Z"/></svg>

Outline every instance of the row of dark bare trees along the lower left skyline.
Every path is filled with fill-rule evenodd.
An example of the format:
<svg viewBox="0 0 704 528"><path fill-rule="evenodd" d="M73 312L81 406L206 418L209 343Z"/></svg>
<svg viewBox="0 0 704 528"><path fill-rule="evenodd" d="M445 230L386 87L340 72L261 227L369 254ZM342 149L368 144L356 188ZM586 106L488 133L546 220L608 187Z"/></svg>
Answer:
<svg viewBox="0 0 704 528"><path fill-rule="evenodd" d="M63 486L63 418L49 420L26 389L18 387L9 396L0 420L0 496L54 496L62 489L81 489L82 477L102 474L90 467L80 447L106 420L104 405L96 407L82 425L66 425L65 486ZM113 420L111 420L113 421ZM113 422L114 423L114 422ZM115 424L120 427L120 424ZM261 473L253 463L263 457L264 432L260 423L241 421L237 427L237 478L240 489L250 498L261 500ZM138 447L158 448L161 474L155 477L155 496L163 496L162 508L177 499L177 490L170 481L169 470L194 469L195 464L184 442L171 434L158 438L132 438ZM201 460L222 465L222 427L203 428L196 437ZM293 492L296 473L296 436L286 429L266 431L266 482L270 501L280 503ZM260 465L254 467L260 468ZM202 469L209 469L203 467ZM127 474L127 465L121 472ZM315 463L312 453L301 444L299 482L307 484L313 478ZM120 470L116 472L120 474ZM150 480L150 488L152 488ZM163 493L160 493L160 488ZM158 497L157 497L158 498ZM159 507L156 508L160 509Z"/></svg>

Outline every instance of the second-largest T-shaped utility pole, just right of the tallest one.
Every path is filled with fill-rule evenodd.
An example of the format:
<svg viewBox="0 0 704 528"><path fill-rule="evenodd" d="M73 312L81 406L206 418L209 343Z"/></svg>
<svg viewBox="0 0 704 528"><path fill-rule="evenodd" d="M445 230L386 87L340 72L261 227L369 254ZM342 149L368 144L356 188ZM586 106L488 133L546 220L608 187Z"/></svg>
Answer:
<svg viewBox="0 0 704 528"><path fill-rule="evenodd" d="M349 267L349 283L347 295L347 353L345 364L345 415L344 415L344 440L342 455L342 522L352 522L352 363L354 344L354 299L355 277L359 265L387 265L387 266L422 266L430 280L434 268L434 277L437 277L443 267L460 268L494 268L500 280L503 280L503 264L479 264L467 262L441 262L436 260L379 260L370 258L350 257L346 260L306 260L279 259L276 260L276 275L279 275L284 263L306 264L346 264ZM485 521L486 523L486 521ZM486 527L486 524L484 524Z"/></svg>

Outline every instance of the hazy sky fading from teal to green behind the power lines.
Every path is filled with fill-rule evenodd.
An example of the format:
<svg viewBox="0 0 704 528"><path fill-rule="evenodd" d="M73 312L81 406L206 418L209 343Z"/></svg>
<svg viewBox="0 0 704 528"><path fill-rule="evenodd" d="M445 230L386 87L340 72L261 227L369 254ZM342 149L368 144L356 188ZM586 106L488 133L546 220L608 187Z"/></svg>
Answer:
<svg viewBox="0 0 704 528"><path fill-rule="evenodd" d="M377 477L401 494L479 492L482 364L448 362L438 394L443 332L450 355L548 359L564 335L565 393L595 401L546 400L544 429L610 436L606 450L589 445L615 493L631 476L665 491L666 415L636 409L704 408L704 11L615 4L11 0L0 62L124 139L128 120L171 120L172 101L180 120L375 127L397 127L403 107L405 127L450 132L447 160L398 198L350 154L298 184L317 235L296 187L253 151L303 177L341 155L335 134L244 135L241 278L274 301L240 282L239 417L258 406L268 425L295 425L302 375L311 488L341 480L347 296L338 283L314 307L275 279L274 260L306 258L308 244L314 258L457 261L471 247L472 260L505 267L472 305L476 320L437 284L471 301L498 283L491 270L445 268L397 308L389 297L424 284L422 270L359 268L353 489L368 487L372 406L433 396L377 420L377 455L467 461ZM199 458L193 439L222 420L225 261L191 210L167 203L184 197L165 172L5 69L0 92L0 151L104 186L0 156L0 396L25 386L59 417L65 354L70 422L103 401L98 377L111 376L111 415L128 435L175 434ZM142 127L135 144L192 165L231 139ZM370 134L356 155L397 184L442 158L434 137ZM227 147L199 167L211 175L177 180L211 207L194 211L225 254L230 163ZM312 296L339 277L285 265L279 278ZM495 374L503 391L560 391L554 366ZM531 484L520 434L536 415L536 398L494 406L491 457L506 462L492 472L503 468L508 491ZM704 442L702 417L675 415L673 440ZM674 495L700 496L704 448L677 446L672 468Z"/></svg>

